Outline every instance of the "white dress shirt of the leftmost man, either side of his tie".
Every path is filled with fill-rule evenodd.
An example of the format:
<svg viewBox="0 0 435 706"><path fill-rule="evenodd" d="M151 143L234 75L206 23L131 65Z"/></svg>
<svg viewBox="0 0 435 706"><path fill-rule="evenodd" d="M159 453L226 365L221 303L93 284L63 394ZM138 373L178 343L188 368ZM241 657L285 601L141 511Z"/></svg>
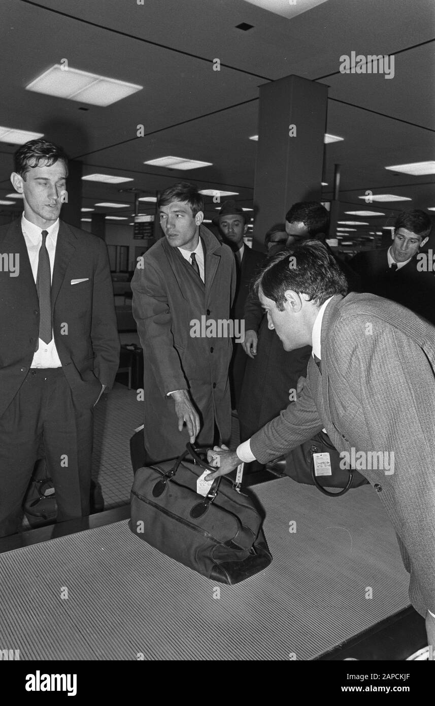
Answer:
<svg viewBox="0 0 435 706"><path fill-rule="evenodd" d="M47 246L47 251L49 253L50 269L51 269L51 282L53 281L53 270L54 270L54 256L56 255L56 243L57 234L59 233L59 218L54 222L49 228L39 228L39 226L31 223L23 217L21 218L21 229L23 230L23 236L25 239L25 244L27 247L27 253L29 255L30 267L32 268L33 279L37 279L38 272L38 258L39 249L42 245L42 231L47 230L48 235L45 241ZM39 345L37 352L33 356L31 368L60 368L61 361L59 359L58 352L56 350L56 345L54 343L54 337L51 338L49 343L44 343L39 338Z"/></svg>

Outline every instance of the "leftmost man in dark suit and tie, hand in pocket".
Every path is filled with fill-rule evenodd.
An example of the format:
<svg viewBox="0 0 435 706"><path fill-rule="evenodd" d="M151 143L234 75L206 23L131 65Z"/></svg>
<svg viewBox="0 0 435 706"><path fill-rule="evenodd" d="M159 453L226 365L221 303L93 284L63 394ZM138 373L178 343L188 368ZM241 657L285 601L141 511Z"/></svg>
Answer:
<svg viewBox="0 0 435 706"><path fill-rule="evenodd" d="M0 228L0 537L18 531L44 445L58 521L89 515L92 407L118 369L109 259L102 240L59 220L67 158L46 140L15 154L23 216Z"/></svg>

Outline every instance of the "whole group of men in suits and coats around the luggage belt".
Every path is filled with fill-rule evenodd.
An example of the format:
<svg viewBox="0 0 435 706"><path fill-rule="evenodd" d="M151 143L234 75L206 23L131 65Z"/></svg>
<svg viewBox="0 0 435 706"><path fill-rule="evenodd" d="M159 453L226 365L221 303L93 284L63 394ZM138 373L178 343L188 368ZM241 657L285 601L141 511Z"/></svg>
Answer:
<svg viewBox="0 0 435 706"><path fill-rule="evenodd" d="M118 369L106 246L59 219L67 176L56 145L19 148L11 180L23 215L0 228L1 253L20 262L19 276L0 273L0 537L19 529L41 448L58 521L89 514L92 409ZM267 256L245 244L235 201L216 217L219 238L192 184L163 191L157 208L164 237L132 281L147 454L173 458L195 441L210 448L214 478L285 457L321 429L339 452L393 451L391 476L362 473L396 530L435 645L435 277L418 260L429 217L400 214L388 249L346 264L325 243L319 203L294 204L269 229ZM219 326L193 337L203 317L244 321L244 341ZM232 409L242 443L229 450Z"/></svg>

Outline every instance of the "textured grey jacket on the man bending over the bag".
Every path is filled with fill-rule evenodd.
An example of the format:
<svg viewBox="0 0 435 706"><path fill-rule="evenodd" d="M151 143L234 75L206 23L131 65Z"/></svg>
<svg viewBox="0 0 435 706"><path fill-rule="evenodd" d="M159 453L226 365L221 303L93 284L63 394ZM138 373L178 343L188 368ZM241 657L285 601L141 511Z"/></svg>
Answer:
<svg viewBox="0 0 435 706"><path fill-rule="evenodd" d="M333 297L297 402L251 438L261 462L324 426L338 451L394 453L392 474L357 470L379 493L410 570L410 598L435 612L435 328L373 294ZM409 561L408 561L409 559Z"/></svg>

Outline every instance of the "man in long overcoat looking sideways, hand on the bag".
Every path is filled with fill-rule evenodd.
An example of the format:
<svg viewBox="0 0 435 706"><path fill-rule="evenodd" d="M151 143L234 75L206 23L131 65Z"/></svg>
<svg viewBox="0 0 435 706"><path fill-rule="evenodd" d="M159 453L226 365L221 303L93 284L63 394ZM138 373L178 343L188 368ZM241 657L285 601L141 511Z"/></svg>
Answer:
<svg viewBox="0 0 435 706"><path fill-rule="evenodd" d="M233 253L202 225L195 186L174 184L157 208L165 237L138 259L131 283L145 362L145 449L154 461L176 457L188 441L230 437L235 292Z"/></svg>

